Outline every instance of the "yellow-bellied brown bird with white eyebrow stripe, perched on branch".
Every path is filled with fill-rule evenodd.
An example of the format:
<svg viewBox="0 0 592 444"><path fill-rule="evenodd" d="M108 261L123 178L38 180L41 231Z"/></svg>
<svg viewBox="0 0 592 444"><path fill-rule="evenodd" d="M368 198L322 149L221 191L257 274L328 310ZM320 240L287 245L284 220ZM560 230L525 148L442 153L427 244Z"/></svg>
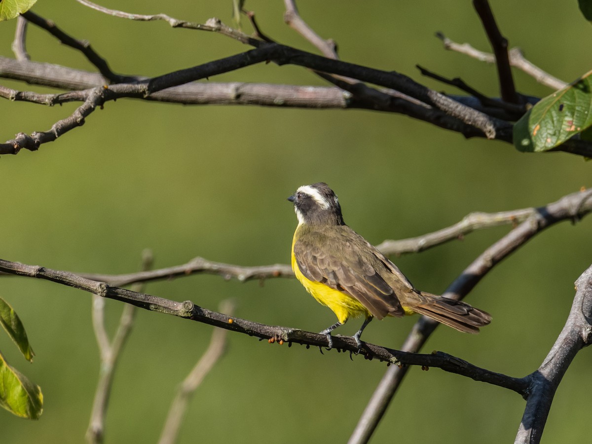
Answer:
<svg viewBox="0 0 592 444"><path fill-rule="evenodd" d="M424 314L465 333L478 333L491 315L462 301L420 291L376 247L343 221L341 205L324 182L303 185L288 197L298 226L292 240L292 270L304 288L337 316L320 334L333 348L331 332L349 318L365 317L353 335L358 349L373 318Z"/></svg>

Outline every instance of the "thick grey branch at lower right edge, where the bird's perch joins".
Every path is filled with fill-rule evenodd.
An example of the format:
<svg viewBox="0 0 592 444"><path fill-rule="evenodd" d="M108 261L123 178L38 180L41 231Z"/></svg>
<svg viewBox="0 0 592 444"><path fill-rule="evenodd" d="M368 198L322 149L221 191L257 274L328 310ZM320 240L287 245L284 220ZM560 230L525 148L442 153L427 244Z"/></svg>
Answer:
<svg viewBox="0 0 592 444"><path fill-rule="evenodd" d="M526 408L516 443L540 442L555 391L577 352L592 342L592 266L575 281L570 315L539 369L529 375Z"/></svg>

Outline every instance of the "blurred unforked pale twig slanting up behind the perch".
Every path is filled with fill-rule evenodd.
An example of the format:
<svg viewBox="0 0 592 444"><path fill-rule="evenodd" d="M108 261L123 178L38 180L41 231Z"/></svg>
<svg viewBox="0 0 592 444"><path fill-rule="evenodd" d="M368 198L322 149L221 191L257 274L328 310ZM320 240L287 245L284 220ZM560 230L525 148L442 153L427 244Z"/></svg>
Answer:
<svg viewBox="0 0 592 444"><path fill-rule="evenodd" d="M232 316L234 303L230 300L224 300L220 303L219 310ZM184 381L179 385L175 399L173 400L169 414L166 418L165 427L160 435L159 444L173 444L177 441L179 428L185 416L185 411L195 390L200 386L206 375L218 360L224 355L226 350L226 337L228 330L214 329L210 340L210 346L201 356L200 361L195 364Z"/></svg>

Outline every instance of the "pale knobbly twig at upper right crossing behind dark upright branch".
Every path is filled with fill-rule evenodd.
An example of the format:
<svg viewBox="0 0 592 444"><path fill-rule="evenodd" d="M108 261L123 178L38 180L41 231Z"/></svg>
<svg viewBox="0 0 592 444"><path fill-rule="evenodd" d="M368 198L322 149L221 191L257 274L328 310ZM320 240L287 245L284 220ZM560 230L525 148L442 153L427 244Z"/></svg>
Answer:
<svg viewBox="0 0 592 444"><path fill-rule="evenodd" d="M446 37L443 33L436 33L436 37L442 40L445 49L465 54L466 56L472 57L473 59L481 60L481 62L496 62L496 57L494 54L475 49L468 43L456 43L455 41L452 41L450 38ZM522 70L527 75L533 77L537 82L542 83L542 85L548 86L554 90L564 88L567 85L567 82L559 80L548 72L543 71L532 62L529 62L529 60L526 60L520 48L510 49L508 52L508 57L511 66Z"/></svg>

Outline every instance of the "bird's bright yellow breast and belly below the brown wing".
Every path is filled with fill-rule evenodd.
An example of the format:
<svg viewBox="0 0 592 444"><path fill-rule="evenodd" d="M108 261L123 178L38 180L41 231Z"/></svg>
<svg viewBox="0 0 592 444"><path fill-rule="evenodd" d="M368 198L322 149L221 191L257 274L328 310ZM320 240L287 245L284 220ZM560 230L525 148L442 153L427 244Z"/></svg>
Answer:
<svg viewBox="0 0 592 444"><path fill-rule="evenodd" d="M313 295L319 303L329 307L340 323L345 323L350 317L371 316L366 307L357 299L342 291L327 287L321 282L314 282L306 278L298 268L298 263L294 257L294 244L292 244L292 270L306 291Z"/></svg>

